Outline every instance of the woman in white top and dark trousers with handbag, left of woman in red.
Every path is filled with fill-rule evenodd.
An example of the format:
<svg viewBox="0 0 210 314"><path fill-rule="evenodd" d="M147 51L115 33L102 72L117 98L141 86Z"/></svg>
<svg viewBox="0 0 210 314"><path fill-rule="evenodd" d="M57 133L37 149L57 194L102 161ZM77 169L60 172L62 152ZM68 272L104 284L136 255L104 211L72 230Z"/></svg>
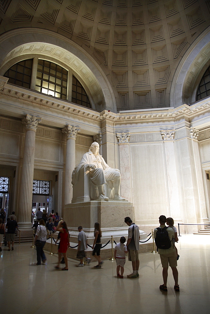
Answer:
<svg viewBox="0 0 210 314"><path fill-rule="evenodd" d="M36 228L36 235L35 235L35 245L36 245L36 257L37 263L36 265L41 265L41 260L43 263L46 262L46 257L43 251L43 247L47 241L47 228L45 226L44 220L40 219L39 225Z"/></svg>

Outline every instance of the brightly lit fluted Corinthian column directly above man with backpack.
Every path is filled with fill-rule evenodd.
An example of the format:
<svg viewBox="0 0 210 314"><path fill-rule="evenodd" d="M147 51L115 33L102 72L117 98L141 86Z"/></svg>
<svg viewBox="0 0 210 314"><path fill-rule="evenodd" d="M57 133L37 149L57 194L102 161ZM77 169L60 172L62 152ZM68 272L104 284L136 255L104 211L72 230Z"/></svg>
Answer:
<svg viewBox="0 0 210 314"><path fill-rule="evenodd" d="M174 130L161 131L165 147L167 179L169 187L170 215L175 222L181 221L179 190L174 153Z"/></svg>

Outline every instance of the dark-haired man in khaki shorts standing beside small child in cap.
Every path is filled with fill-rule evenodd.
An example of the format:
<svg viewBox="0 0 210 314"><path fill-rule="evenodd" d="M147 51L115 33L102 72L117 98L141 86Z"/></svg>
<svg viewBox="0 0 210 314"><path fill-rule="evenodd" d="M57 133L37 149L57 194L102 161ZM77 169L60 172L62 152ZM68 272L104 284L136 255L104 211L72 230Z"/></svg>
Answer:
<svg viewBox="0 0 210 314"><path fill-rule="evenodd" d="M132 222L130 217L125 217L124 222L129 226L128 228L128 241L127 251L128 260L132 262L133 273L127 275L129 278L139 277L139 227Z"/></svg>

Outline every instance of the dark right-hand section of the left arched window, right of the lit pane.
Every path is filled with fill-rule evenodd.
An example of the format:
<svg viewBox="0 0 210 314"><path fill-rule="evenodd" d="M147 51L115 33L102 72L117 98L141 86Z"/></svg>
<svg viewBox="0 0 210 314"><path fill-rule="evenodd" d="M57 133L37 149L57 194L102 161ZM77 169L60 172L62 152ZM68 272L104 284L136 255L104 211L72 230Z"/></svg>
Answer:
<svg viewBox="0 0 210 314"><path fill-rule="evenodd" d="M91 108L90 100L78 79L72 75L72 96L71 101L77 105Z"/></svg>

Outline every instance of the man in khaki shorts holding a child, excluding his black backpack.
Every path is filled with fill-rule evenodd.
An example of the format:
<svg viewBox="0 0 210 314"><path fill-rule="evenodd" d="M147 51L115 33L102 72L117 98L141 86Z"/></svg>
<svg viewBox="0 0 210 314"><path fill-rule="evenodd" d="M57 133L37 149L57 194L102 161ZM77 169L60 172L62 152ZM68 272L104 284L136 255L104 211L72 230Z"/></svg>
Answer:
<svg viewBox="0 0 210 314"><path fill-rule="evenodd" d="M159 228L164 228L166 227L166 216L161 215L159 217L159 223L160 227ZM156 239L156 234L158 232L158 229L155 228L154 230L154 239ZM168 236L171 242L171 247L168 249L160 249L158 248L158 253L160 254L160 259L163 267L163 284L160 285L160 290L163 291L168 291L167 290L167 279L168 279L168 268L169 266L172 269L172 273L174 276L174 290L175 291L180 291L179 284L178 284L178 270L177 270L177 254L176 254L176 249L174 247L174 242L173 238L175 239L175 234L174 230L172 228L167 228Z"/></svg>

